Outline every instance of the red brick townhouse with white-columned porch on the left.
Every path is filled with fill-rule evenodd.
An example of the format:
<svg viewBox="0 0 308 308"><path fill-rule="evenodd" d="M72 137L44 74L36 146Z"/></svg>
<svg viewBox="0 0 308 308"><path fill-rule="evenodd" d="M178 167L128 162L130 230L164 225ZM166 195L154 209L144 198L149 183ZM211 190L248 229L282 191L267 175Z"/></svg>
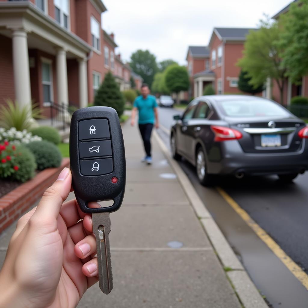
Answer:
<svg viewBox="0 0 308 308"><path fill-rule="evenodd" d="M116 75L104 11L101 0L0 0L0 104L33 99L48 116L50 102L93 102L106 72Z"/></svg>

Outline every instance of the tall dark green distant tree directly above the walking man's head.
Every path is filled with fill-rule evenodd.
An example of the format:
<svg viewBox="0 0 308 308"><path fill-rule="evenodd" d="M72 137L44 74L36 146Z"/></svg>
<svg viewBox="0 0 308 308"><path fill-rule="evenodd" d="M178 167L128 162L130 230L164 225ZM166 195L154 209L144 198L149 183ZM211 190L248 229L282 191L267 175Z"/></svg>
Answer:
<svg viewBox="0 0 308 308"><path fill-rule="evenodd" d="M151 87L154 75L158 70L155 55L148 50L139 49L131 55L130 66L136 74L143 78L144 83Z"/></svg>

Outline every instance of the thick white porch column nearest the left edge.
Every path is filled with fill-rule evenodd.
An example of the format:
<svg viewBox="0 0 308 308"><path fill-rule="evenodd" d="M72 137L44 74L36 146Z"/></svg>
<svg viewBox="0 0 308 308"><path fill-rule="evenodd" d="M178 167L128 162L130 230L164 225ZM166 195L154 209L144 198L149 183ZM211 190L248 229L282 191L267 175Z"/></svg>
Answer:
<svg viewBox="0 0 308 308"><path fill-rule="evenodd" d="M27 33L24 29L13 30L13 71L15 99L19 106L31 108L31 87Z"/></svg>

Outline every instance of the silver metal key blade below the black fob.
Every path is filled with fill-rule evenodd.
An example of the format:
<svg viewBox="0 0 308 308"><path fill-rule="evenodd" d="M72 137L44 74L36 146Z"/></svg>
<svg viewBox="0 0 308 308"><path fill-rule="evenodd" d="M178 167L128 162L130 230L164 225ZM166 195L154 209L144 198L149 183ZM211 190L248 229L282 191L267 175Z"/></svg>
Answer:
<svg viewBox="0 0 308 308"><path fill-rule="evenodd" d="M92 224L96 237L99 288L109 294L113 288L109 246L110 213L92 213Z"/></svg>

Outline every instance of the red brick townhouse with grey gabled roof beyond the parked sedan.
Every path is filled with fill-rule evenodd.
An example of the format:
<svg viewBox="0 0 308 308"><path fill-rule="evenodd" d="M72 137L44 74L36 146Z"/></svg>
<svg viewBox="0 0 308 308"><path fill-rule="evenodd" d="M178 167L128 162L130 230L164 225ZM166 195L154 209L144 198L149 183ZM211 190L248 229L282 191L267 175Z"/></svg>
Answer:
<svg viewBox="0 0 308 308"><path fill-rule="evenodd" d="M208 47L195 47L195 56L194 48L191 49L191 46L188 49L188 72L191 72L189 75L192 76L194 97L202 95L209 83L213 85L217 94L241 92L237 88L241 69L236 63L242 57L249 30L255 29L214 28Z"/></svg>

